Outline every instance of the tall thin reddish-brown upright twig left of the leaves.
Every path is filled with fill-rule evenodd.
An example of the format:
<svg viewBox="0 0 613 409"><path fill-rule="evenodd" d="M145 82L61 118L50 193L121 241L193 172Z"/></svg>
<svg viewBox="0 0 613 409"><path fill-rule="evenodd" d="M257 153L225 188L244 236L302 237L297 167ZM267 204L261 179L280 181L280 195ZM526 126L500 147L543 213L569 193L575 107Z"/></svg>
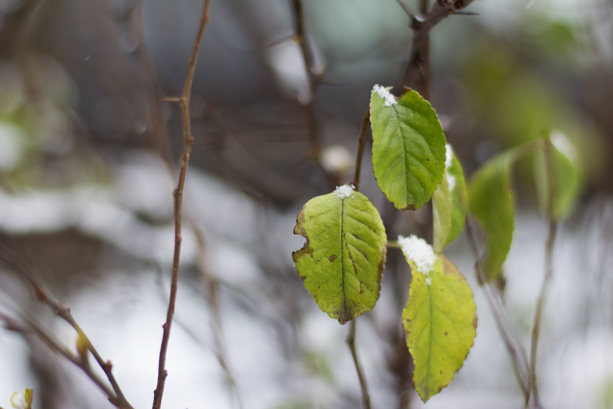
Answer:
<svg viewBox="0 0 613 409"><path fill-rule="evenodd" d="M194 74L196 72L196 63L200 52L200 45L202 45L202 38L204 37L204 30L207 27L207 23L210 20L209 8L211 0L205 0L202 7L202 17L200 18L200 26L198 34L196 36L196 44L192 49L191 56L189 57L188 72L185 78L185 85L183 86L183 94L178 99L173 101L178 102L181 107L181 115L183 117L183 155L180 160L180 170L177 182L177 188L173 192L174 197L174 218L175 218L175 250L172 258L172 277L170 279L170 300L168 303L168 311L166 313L166 323L162 326L162 345L159 350L159 364L158 364L158 384L153 392L153 409L159 409L162 405L162 396L164 394L164 385L166 384L166 377L168 372L166 370L166 352L168 350L168 343L170 339L170 327L172 326L172 318L175 313L175 303L177 301L177 288L179 277L179 264L181 258L181 215L183 206L183 188L185 186L185 178L187 175L189 155L191 154L191 147L194 144L194 137L191 134L191 120L189 117L189 96L191 94L191 86L194 81Z"/></svg>

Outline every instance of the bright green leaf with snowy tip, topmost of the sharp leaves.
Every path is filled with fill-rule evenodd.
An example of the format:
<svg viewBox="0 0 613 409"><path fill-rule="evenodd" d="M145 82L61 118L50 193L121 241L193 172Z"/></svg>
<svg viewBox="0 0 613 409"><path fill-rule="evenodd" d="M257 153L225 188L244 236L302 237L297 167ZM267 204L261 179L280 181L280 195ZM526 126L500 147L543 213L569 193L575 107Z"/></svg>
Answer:
<svg viewBox="0 0 613 409"><path fill-rule="evenodd" d="M389 88L376 85L370 123L379 188L396 208L421 207L445 170L445 137L435 110L415 91L405 91L396 101Z"/></svg>

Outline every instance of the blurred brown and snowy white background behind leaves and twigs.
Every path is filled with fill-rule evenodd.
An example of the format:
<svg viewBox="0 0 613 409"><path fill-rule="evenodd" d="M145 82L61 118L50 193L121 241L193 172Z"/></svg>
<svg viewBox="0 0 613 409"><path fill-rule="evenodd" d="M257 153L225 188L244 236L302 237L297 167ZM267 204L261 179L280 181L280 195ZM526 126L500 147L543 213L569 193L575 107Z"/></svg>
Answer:
<svg viewBox="0 0 613 409"><path fill-rule="evenodd" d="M405 0L417 10L417 2ZM348 328L295 272L295 216L353 178L375 83L399 95L409 17L394 0L213 0L191 97L180 288L164 407L357 408ZM151 405L173 254L181 93L202 1L0 0L0 244L71 310L134 407ZM582 196L558 231L537 373L547 408L613 408L613 1L487 0L432 30L431 102L469 176L504 148L555 131L576 148ZM397 212L368 153L361 191L398 234L431 239L431 212ZM529 348L546 220L529 162L505 300ZM400 313L409 269L388 251L381 297L357 322L373 408L421 408ZM471 283L477 337L430 408L523 402L465 235L445 254ZM77 335L0 267L0 312L71 350ZM112 407L35 337L0 329L0 406ZM27 334L26 334L27 335ZM224 365L220 364L225 362ZM234 383L235 386L232 386Z"/></svg>

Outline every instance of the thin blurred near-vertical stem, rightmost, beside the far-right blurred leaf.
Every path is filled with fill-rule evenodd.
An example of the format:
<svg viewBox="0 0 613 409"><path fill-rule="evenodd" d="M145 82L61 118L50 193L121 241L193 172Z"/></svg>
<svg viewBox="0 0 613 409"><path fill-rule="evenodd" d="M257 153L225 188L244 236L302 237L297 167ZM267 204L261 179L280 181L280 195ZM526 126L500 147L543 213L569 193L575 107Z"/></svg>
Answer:
<svg viewBox="0 0 613 409"><path fill-rule="evenodd" d="M544 140L544 156L546 163L546 178L549 182L549 191L547 192L547 218L549 219L549 226L547 227L547 239L545 242L545 278L543 280L543 286L541 286L541 293L539 294L538 302L536 304L535 321L532 326L532 335L530 340L530 375L528 378L528 390L525 394L524 406L528 407L530 402L530 394L532 391L536 391L536 350L538 348L538 338L541 328L541 317L543 315L543 305L545 302L545 292L547 289L547 283L553 275L553 256L554 256L554 243L555 234L558 229L558 223L553 216L554 207L554 194L555 194L555 181L554 181L554 163L552 160L552 146L551 140L546 138Z"/></svg>

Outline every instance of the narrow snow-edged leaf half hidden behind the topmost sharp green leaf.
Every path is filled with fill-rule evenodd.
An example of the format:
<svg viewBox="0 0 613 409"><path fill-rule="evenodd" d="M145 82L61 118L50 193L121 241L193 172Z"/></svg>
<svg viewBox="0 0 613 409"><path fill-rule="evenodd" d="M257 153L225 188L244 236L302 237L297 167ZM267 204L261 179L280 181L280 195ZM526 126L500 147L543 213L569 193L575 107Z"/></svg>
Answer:
<svg viewBox="0 0 613 409"><path fill-rule="evenodd" d="M446 172L443 181L432 195L433 248L436 253L455 239L468 212L468 193L462 165L455 158L450 145L447 148Z"/></svg>

